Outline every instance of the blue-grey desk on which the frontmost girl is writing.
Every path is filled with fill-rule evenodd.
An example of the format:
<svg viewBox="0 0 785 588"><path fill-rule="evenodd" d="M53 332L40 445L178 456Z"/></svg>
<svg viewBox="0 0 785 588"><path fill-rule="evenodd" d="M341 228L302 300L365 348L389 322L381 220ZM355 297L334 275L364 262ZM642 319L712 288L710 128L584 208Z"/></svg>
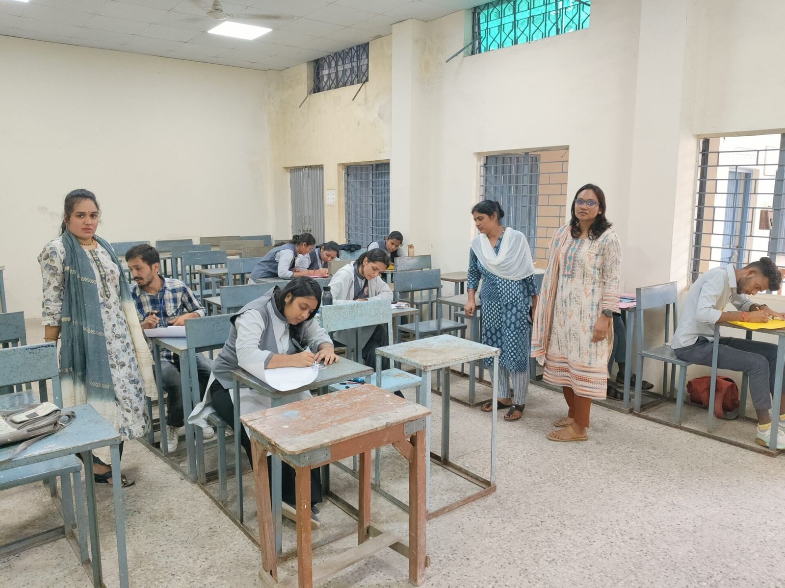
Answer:
<svg viewBox="0 0 785 588"><path fill-rule="evenodd" d="M244 369L235 369L232 371L232 380L234 381L234 398L240 397L240 387L250 388L270 398L270 403L272 408L276 406L281 406L287 404L287 399L292 397L294 394L300 394L301 392L305 392L306 390L319 390L321 394L327 394L328 388L332 384L336 384L338 382L345 382L352 378L361 378L363 376L369 376L374 372L373 369L367 367L366 365L362 365L356 363L355 361L350 361L345 358L338 358L334 364L328 365L324 369L319 370L319 375L316 376L316 379L312 382L307 384L304 387L297 388L295 390L287 390L286 392L281 392L272 388L268 385L268 383L258 379L255 376L251 376L250 373L246 372ZM235 415L234 415L234 423L232 426L232 430L239 430L240 427L240 403L239 401L235 401L234 403L235 408ZM235 441L235 479L237 483L237 517L239 521L243 522L243 475L240 471L240 464L242 462L239 459L241 456L241 452L243 449L240 447L240 435L235 434L234 437ZM323 482L326 479L329 485L329 470L324 468L323 470ZM281 462L276 456L272 458L272 521L275 526L275 535L276 535L276 554L281 554L283 550L283 541L282 541L282 533L283 533L283 514L281 513ZM310 514L309 514L310 516Z"/></svg>

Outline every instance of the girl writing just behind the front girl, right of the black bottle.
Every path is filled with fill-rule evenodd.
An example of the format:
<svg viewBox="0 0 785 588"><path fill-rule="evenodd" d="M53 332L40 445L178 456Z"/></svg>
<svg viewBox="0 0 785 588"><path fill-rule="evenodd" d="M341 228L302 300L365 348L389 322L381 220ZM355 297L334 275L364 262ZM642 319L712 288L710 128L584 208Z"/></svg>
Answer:
<svg viewBox="0 0 785 588"><path fill-rule="evenodd" d="M389 257L384 249L371 249L364 252L355 262L347 263L330 280L330 293L334 304L345 304L352 300L389 300L392 292L385 281L379 277L389 266ZM335 340L341 345L349 343L353 333L338 331ZM389 345L387 325L360 328L360 348L363 350L363 363L376 367L376 349ZM389 368L389 360L382 360L382 369ZM396 392L398 396L402 394Z"/></svg>

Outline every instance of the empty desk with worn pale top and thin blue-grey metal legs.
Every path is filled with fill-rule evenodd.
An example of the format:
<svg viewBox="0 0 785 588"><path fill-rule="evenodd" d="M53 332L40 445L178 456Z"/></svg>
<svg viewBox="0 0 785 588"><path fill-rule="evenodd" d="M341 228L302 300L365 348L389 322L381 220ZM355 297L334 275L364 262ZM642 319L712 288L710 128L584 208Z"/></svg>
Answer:
<svg viewBox="0 0 785 588"><path fill-rule="evenodd" d="M438 517L440 514L447 513L451 510L458 508L466 503L481 498L484 495L495 492L496 489L496 401L498 399L498 356L499 350L496 347L489 347L482 343L475 343L467 339L460 339L451 335L439 335L429 337L427 339L418 339L416 341L409 341L407 343L398 343L397 345L389 345L387 347L379 347L376 350L376 381L382 381L382 358L389 358L392 363L398 361L400 363L411 365L418 370L422 370L422 386L420 390L420 397L418 397L418 404L431 407L431 372L435 370L444 370L444 390L442 391L442 455L430 453L433 459L440 466L447 470L451 470L455 474L473 482L482 488L479 492L469 495L464 499L460 499L455 503L443 506L439 510L430 511L430 492L426 496L426 505L429 509L428 517ZM486 480L465 468L456 465L450 461L450 367L462 363L469 363L469 361L480 361L484 358L493 358L493 397L491 399L491 477ZM428 430L428 437L426 440L427 448L430 448L430 417L426 419L426 429ZM426 466L426 477L430 480L430 462ZM402 508L407 508L407 505L395 499L392 495L380 490L380 493L385 498L390 499Z"/></svg>

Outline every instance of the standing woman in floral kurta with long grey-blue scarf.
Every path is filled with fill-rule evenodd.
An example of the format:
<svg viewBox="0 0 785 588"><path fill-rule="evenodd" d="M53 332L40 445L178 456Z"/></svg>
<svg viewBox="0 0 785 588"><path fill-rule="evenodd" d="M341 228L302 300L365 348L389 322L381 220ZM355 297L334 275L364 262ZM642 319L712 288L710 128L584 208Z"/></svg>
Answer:
<svg viewBox="0 0 785 588"><path fill-rule="evenodd" d="M43 278L42 322L46 341L57 341L62 331L64 405L93 405L126 440L142 437L150 426L144 393L145 387L152 390L154 386L152 358L119 261L106 241L95 235L98 218L92 192L68 194L62 234L38 256ZM96 481L111 482L108 448L93 453ZM122 485L133 482L123 476Z"/></svg>

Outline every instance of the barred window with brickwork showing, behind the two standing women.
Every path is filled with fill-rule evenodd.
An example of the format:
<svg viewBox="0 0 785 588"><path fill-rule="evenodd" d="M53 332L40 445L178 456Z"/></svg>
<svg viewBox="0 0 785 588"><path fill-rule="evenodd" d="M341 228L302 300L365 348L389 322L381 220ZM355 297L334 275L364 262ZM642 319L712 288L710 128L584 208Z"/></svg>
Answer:
<svg viewBox="0 0 785 588"><path fill-rule="evenodd" d="M569 150L486 155L480 200L504 209L502 224L526 235L535 267L546 267L550 238L566 222Z"/></svg>

